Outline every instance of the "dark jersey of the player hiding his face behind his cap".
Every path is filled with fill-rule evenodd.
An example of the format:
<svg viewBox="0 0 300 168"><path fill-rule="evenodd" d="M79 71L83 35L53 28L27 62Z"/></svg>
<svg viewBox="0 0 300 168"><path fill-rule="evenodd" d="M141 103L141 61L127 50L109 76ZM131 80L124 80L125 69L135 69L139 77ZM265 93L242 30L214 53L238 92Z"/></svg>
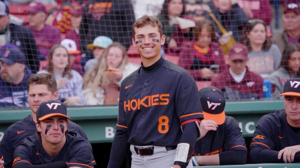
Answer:
<svg viewBox="0 0 300 168"><path fill-rule="evenodd" d="M225 122L216 131L208 131L195 145L194 155L214 155L228 150L245 150L247 147L238 122L226 116Z"/></svg>

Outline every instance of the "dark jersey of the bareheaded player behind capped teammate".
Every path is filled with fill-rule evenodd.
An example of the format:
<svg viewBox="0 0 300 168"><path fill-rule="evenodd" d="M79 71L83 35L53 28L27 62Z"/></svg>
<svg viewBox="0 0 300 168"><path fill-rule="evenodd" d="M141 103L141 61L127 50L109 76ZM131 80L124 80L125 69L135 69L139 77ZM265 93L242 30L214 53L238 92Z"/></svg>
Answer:
<svg viewBox="0 0 300 168"><path fill-rule="evenodd" d="M78 132L83 138L88 139L83 129L76 123L69 120L67 124L69 131ZM32 120L32 115L29 115L22 120L13 123L7 128L0 143L0 150L5 158L4 167L11 168L13 163L13 151L16 147L29 136L36 134L35 122Z"/></svg>

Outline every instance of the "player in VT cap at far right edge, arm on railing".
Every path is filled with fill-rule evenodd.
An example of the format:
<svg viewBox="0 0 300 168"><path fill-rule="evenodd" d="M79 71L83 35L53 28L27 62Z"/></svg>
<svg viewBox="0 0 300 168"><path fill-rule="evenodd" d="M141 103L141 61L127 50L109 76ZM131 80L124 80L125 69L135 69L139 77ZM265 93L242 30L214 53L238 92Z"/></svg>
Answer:
<svg viewBox="0 0 300 168"><path fill-rule="evenodd" d="M256 125L250 159L257 163L300 162L300 78L286 80L284 109L266 114Z"/></svg>

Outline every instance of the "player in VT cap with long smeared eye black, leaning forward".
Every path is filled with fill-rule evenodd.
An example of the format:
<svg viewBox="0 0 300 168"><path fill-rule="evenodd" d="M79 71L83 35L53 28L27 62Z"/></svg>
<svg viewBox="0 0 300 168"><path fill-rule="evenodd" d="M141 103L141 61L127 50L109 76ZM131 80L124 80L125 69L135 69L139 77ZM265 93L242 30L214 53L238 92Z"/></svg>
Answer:
<svg viewBox="0 0 300 168"><path fill-rule="evenodd" d="M13 152L13 168L92 168L93 151L88 140L68 132L67 107L57 100L40 104L36 134L24 139Z"/></svg>

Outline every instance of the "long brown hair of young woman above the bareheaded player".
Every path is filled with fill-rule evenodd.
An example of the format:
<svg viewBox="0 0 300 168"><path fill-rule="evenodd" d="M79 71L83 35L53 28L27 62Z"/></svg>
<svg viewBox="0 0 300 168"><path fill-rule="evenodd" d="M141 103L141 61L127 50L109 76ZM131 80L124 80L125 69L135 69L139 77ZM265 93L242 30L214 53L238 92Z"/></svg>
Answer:
<svg viewBox="0 0 300 168"><path fill-rule="evenodd" d="M66 51L67 49L60 45L60 44L55 44L51 47L51 49L49 50L49 59L48 59L48 66L47 66L47 71L50 73L50 74L53 74L53 65L52 65L52 57L53 57L53 54L55 52L55 50L57 48L64 48ZM67 51L68 53L68 51ZM70 58L70 55L68 54L68 62L69 62L69 58ZM62 74L62 77L64 77L66 74L68 75L68 79L71 79L73 76L71 74L71 67L70 65L68 64L66 68L64 68L64 73Z"/></svg>

